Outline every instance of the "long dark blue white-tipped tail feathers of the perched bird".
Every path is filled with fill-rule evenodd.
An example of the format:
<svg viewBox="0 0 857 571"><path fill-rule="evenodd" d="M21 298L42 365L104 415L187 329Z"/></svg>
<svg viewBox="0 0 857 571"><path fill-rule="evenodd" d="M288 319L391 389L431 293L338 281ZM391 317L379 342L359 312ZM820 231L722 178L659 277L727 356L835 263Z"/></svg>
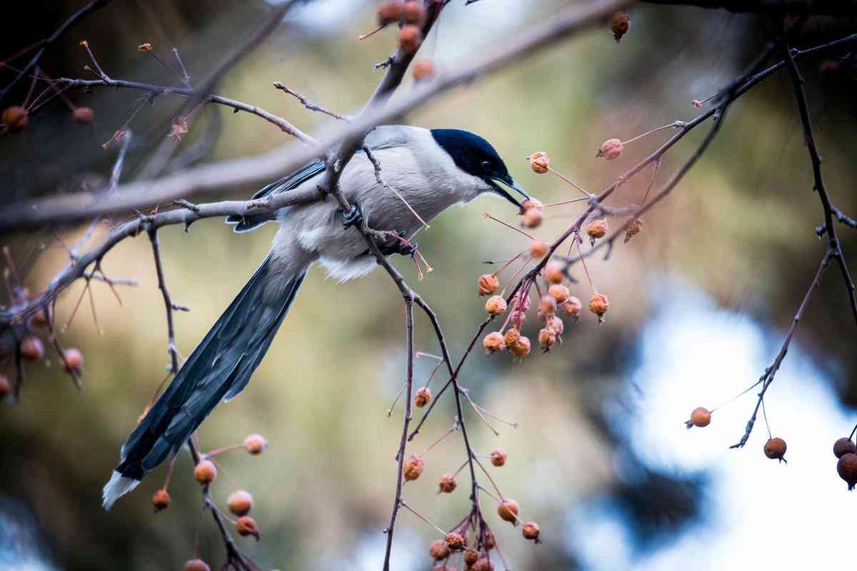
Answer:
<svg viewBox="0 0 857 571"><path fill-rule="evenodd" d="M269 254L131 433L105 485L105 509L175 453L219 401L247 385L306 275L275 275L273 266Z"/></svg>

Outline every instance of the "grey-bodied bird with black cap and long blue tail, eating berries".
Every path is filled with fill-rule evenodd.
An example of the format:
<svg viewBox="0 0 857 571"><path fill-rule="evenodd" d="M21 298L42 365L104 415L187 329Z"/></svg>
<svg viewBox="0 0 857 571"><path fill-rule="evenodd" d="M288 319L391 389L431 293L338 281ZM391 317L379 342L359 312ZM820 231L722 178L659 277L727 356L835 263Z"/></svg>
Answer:
<svg viewBox="0 0 857 571"><path fill-rule="evenodd" d="M494 147L476 134L384 126L375 128L365 142L381 164L384 180L423 220L481 194L503 197L520 208L506 187L529 198L512 180ZM322 161L309 163L262 188L254 198L315 187L324 170ZM278 211L279 231L271 252L123 445L121 461L104 488L105 509L176 453L219 401L228 401L243 390L310 265L320 262L331 277L341 281L375 268L376 260L353 228L355 224L392 231L405 239L423 225L402 199L378 184L374 166L363 152L347 164L339 187L352 205L348 213L333 199ZM226 222L235 224L237 232L245 232L266 223L267 218L228 217ZM402 244L390 235L379 246L385 255L413 254L414 247Z"/></svg>

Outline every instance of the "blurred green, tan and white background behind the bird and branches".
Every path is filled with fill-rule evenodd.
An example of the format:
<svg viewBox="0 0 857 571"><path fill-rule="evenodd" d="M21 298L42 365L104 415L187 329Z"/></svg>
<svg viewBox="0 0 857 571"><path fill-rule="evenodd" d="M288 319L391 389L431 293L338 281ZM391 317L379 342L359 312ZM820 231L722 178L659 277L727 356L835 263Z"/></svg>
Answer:
<svg viewBox="0 0 857 571"><path fill-rule="evenodd" d="M0 39L6 57L51 33L82 0L31 2ZM548 21L568 2L455 0L417 57L439 73L473 54L496 49ZM264 21L269 6L248 0L114 0L81 22L46 53L45 74L87 77L87 39L115 79L171 84L175 78L137 45L151 42L160 57L177 47L193 78L204 78L239 40ZM512 175L544 202L576 191L551 175L531 172L524 157L547 151L552 166L597 192L650 153L670 134L626 147L618 160L595 158L602 140L627 140L697 113L692 99L723 86L758 54L775 27L752 15L641 4L616 44L605 25L536 57L437 98L402 121L429 128L466 128L482 134L506 158ZM373 73L395 45L382 31L357 41L375 25L375 4L316 0L293 11L258 50L220 82L218 91L259 104L312 132L327 116L303 109L272 87L275 80L343 113L360 109L381 74ZM854 33L853 21L809 21L801 47ZM854 71L833 62L845 52L800 60L812 119L824 154L824 176L843 211L857 212L854 196ZM0 70L3 84L13 77ZM26 83L26 82L25 82ZM23 85L7 100L23 100ZM399 90L408 92L409 78ZM92 126L72 122L60 99L33 113L28 128L0 137L0 202L97 187L109 176L117 148L102 143L139 105L141 93L95 89L69 92L74 104L95 110ZM15 102L17 103L17 102ZM183 100L159 97L130 122L135 134L123 180L141 175L147 158L169 133ZM668 153L659 188L701 139L704 127ZM181 149L201 162L266 152L284 135L258 117L210 106L198 112ZM183 165L171 165L181 168ZM650 179L644 171L620 188L611 205L638 202ZM589 313L566 323L561 346L533 352L520 363L507 355L474 354L461 382L482 407L518 428L494 423L500 437L472 409L466 420L475 448L505 448L505 467L491 474L521 505L524 520L542 526L534 546L494 515L485 500L510 568L674 569L832 568L846 561L855 498L836 475L831 446L854 425L857 353L846 289L836 271L824 277L795 342L765 399L771 431L788 442L788 465L762 453L758 422L746 449L729 450L744 431L750 393L714 414L705 429L687 431L694 407L716 407L758 379L779 349L785 330L812 281L826 242L811 192L812 172L800 118L786 74L775 74L740 98L710 151L671 197L644 219L640 235L617 245L608 261L588 267L608 294L607 323ZM244 188L234 198L256 190ZM207 195L204 199L218 199ZM197 197L201 200L203 198ZM582 211L548 209L536 234L559 235ZM482 217L515 223L501 201L480 199L447 212L419 236L434 267L421 282L410 260L393 263L439 313L456 359L482 319L476 277L526 247L525 239ZM93 244L111 223L105 221ZM219 220L160 232L173 299L191 307L176 315L177 345L189 354L264 258L275 228L235 235ZM3 235L32 291L45 288L66 261L63 243L82 228ZM857 240L842 228L845 252L857 266ZM493 266L496 267L496 266ZM0 408L0 568L181 568L195 550L216 567L223 546L210 515L201 511L188 455L172 476L170 509L153 514L150 497L165 468L105 513L101 486L118 450L165 375L166 326L145 237L124 241L103 263L111 277L133 277L118 288L122 305L104 283L93 283L97 323L84 299L63 334L81 348L85 384L78 391L57 366L27 366L22 401ZM576 266L572 293L590 288ZM502 277L508 277L506 271ZM506 283L503 280L503 283ZM57 324L69 322L83 284L57 303ZM353 283L310 272L266 360L243 394L219 406L201 426L202 449L241 443L251 432L271 446L261 456L238 450L219 457L213 496L222 506L242 488L255 497L262 540L239 539L263 568L377 569L381 567L393 502L393 455L402 403L386 411L405 375L404 319L393 283L378 271ZM536 337L536 319L525 333ZM437 353L434 336L417 313L417 350ZM13 378L8 360L3 374ZM417 360L417 386L434 366ZM432 386L446 378L440 372ZM9 403L7 403L9 404ZM428 447L452 423L444 396L409 450ZM419 418L419 413L417 413ZM435 495L440 475L464 460L453 434L425 458L421 479L405 486L405 500L440 527L467 513L468 477L458 490ZM428 569L430 526L401 512L393 563ZM499 563L498 563L499 565ZM502 568L501 566L498 568Z"/></svg>

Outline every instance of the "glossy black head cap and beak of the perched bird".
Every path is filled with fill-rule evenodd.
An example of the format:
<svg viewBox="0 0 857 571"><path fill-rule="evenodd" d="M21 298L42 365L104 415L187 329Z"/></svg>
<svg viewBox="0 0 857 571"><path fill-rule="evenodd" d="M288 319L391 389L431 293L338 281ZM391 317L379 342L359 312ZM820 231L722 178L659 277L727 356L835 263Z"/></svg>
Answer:
<svg viewBox="0 0 857 571"><path fill-rule="evenodd" d="M502 182L507 187L521 193L525 198L530 198L524 189L518 187L512 180L512 175L509 175L509 170L506 169L506 163L503 162L503 159L487 140L462 129L432 129L431 134L434 141L449 154L459 169L488 182L495 192L512 204L520 207L520 203L504 188L498 186L497 182Z"/></svg>

